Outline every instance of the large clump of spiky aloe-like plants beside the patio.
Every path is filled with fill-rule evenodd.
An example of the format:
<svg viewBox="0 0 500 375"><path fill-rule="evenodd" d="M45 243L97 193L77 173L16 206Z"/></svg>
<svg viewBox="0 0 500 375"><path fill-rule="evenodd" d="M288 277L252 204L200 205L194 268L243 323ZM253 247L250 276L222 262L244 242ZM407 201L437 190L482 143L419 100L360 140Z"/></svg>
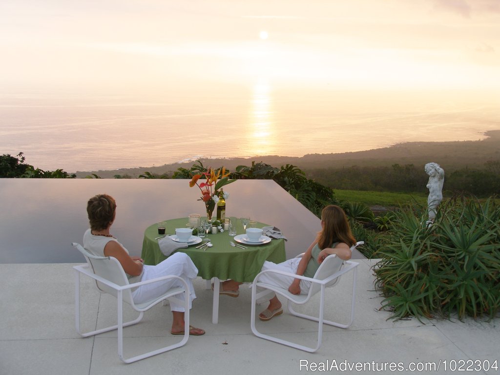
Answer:
<svg viewBox="0 0 500 375"><path fill-rule="evenodd" d="M392 318L496 316L500 307L500 206L457 195L426 225L425 207L394 212L379 243L375 286Z"/></svg>

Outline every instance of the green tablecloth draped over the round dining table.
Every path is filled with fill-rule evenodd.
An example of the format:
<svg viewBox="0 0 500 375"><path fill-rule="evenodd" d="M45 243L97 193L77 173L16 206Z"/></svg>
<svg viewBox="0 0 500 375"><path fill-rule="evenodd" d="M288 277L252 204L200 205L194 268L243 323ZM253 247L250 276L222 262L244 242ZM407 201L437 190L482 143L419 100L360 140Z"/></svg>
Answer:
<svg viewBox="0 0 500 375"><path fill-rule="evenodd" d="M165 221L166 234L175 234L175 228L186 226L187 217ZM256 226L263 227L266 224L258 222ZM243 232L243 226L238 220L236 233L242 234ZM144 264L158 264L167 258L161 253L158 241L154 239L157 236L156 223L148 226L144 231L141 254ZM196 245L177 250L189 255L198 268L198 276L205 280L218 277L221 280L230 278L240 282L251 282L260 272L265 260L280 263L286 259L283 239L272 239L269 243L262 245L244 245L247 248L242 249L230 245L229 241L233 240L233 237L229 236L227 231L207 236L213 246L207 247L205 251L195 248Z"/></svg>

